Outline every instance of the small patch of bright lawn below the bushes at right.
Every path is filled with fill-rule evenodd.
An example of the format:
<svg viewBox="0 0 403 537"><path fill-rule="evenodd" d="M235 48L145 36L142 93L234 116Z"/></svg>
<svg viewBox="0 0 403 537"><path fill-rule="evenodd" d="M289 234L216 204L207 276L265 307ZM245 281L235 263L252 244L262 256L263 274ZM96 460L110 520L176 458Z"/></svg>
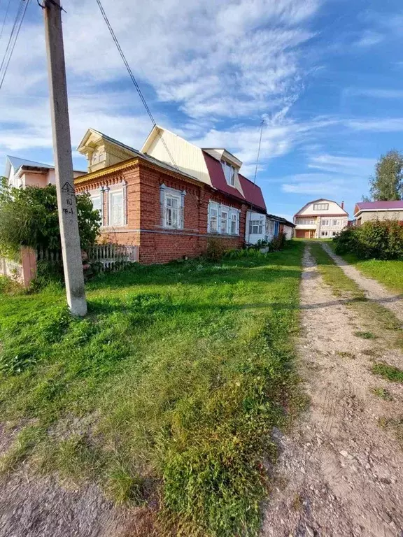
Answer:
<svg viewBox="0 0 403 537"><path fill-rule="evenodd" d="M334 243L330 243L332 248ZM381 259L358 259L354 254L342 255L346 262L354 265L362 274L374 278L393 291L403 292L403 260L382 261Z"/></svg>

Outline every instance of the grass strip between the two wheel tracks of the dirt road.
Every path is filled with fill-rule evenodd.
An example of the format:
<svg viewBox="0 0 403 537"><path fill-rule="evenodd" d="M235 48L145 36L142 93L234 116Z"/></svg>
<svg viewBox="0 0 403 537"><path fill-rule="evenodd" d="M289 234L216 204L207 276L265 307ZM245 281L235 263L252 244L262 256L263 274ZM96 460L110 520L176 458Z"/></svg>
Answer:
<svg viewBox="0 0 403 537"><path fill-rule="evenodd" d="M309 246L318 270L325 283L332 288L334 296L345 299L346 306L353 308L365 323L366 330L356 331L355 336L368 340L383 338L388 345L403 349L403 330L395 314L381 304L367 300L361 287L348 278L319 243Z"/></svg>

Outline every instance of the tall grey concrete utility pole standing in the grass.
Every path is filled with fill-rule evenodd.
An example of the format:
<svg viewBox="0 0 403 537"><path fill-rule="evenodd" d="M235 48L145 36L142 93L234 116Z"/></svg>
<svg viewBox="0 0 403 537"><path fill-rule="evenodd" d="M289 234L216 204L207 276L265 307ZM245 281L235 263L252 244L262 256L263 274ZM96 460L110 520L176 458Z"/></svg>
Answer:
<svg viewBox="0 0 403 537"><path fill-rule="evenodd" d="M59 211L60 236L62 238L64 279L66 280L67 303L70 311L72 315L83 317L87 313L87 301L85 300L76 192L73 181L61 12L60 0L45 0L43 13L45 15L50 114L52 117L57 208Z"/></svg>

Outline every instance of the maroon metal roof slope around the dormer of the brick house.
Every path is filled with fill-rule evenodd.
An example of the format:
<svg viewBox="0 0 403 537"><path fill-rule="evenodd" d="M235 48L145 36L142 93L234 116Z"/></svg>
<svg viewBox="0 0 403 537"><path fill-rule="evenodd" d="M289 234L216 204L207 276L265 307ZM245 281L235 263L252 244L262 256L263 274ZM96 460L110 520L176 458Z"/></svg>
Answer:
<svg viewBox="0 0 403 537"><path fill-rule="evenodd" d="M258 210L264 210L266 212L266 204L264 203L262 190L257 185L253 185L253 182L248 180L246 177L241 176L239 173L239 181L241 182L241 187L243 190L244 196L236 188L228 185L225 180L224 171L222 171L222 166L219 160L211 157L208 153L203 151L204 160L206 161L206 166L208 170L208 175L210 176L211 185L214 188L224 192L225 194L230 194L235 198L238 198L241 201L246 201L253 205Z"/></svg>

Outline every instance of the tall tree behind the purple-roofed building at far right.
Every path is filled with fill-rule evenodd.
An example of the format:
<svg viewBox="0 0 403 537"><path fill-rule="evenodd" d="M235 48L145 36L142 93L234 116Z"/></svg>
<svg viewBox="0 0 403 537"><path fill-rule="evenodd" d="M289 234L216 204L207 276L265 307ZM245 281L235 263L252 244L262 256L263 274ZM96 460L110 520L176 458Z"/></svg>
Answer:
<svg viewBox="0 0 403 537"><path fill-rule="evenodd" d="M375 176L369 178L374 201L391 201L403 197L403 155L392 150L381 155L375 166Z"/></svg>

